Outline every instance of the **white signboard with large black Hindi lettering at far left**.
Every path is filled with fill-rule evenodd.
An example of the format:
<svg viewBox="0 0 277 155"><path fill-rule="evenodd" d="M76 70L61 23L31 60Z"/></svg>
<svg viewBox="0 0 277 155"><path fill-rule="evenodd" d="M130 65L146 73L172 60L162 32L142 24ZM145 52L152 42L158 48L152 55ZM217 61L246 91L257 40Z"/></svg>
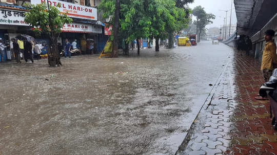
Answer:
<svg viewBox="0 0 277 155"><path fill-rule="evenodd" d="M18 26L29 26L24 21L25 12L11 9L0 10L0 25L18 25Z"/></svg>

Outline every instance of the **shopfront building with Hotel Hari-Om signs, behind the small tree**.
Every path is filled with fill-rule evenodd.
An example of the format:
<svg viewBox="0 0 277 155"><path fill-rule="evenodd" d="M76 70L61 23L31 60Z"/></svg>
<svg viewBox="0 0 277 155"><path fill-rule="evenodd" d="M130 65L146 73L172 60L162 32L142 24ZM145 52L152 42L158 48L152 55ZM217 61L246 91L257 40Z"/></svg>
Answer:
<svg viewBox="0 0 277 155"><path fill-rule="evenodd" d="M0 37L6 45L11 45L5 49L4 61L13 59L13 47L11 38L19 34L34 36L31 27L25 23L25 12L29 11L30 4L41 4L45 0L15 1L6 0L0 3ZM96 6L100 0L48 0L49 5L62 4L58 8L61 12L67 13L73 19L71 24L65 24L58 42L64 45L65 40L70 42L77 40L77 48L86 51L87 39L94 40L94 52L102 51L109 35L104 33L104 24L98 20ZM36 41L49 42L48 36L35 37Z"/></svg>

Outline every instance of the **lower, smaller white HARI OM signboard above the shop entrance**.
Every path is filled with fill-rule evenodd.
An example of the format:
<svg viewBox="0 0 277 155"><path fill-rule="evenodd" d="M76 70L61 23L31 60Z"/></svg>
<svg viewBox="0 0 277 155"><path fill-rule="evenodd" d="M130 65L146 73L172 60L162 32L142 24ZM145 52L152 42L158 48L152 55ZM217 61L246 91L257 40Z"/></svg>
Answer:
<svg viewBox="0 0 277 155"><path fill-rule="evenodd" d="M65 24L62 29L63 32L77 32L77 33L102 33L102 28L92 26L91 24L71 23Z"/></svg>

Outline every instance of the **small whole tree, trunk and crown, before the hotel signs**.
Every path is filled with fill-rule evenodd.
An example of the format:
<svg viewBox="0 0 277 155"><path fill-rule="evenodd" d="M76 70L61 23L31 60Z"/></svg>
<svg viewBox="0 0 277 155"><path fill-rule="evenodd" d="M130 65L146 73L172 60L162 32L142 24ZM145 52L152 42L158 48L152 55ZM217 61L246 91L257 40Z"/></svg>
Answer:
<svg viewBox="0 0 277 155"><path fill-rule="evenodd" d="M25 13L25 21L30 26L36 35L46 33L50 38L50 45L47 50L48 63L51 67L61 63L60 53L57 49L57 37L62 32L64 24L70 24L72 19L65 13L61 13L56 7L61 7L58 3L56 6L49 6L46 3L32 5L32 9Z"/></svg>

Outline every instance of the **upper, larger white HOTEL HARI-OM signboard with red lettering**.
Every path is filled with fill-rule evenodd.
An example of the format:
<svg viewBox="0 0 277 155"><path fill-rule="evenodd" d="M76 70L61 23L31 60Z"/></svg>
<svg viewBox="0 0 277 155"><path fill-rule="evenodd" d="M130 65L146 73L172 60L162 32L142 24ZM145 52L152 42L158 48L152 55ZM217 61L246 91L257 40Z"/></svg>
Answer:
<svg viewBox="0 0 277 155"><path fill-rule="evenodd" d="M46 0L31 0L31 4L47 3ZM56 6L61 3L61 8L57 8L60 12L66 13L69 17L81 18L88 20L97 20L97 9L78 4L68 3L64 1L48 0L49 5Z"/></svg>

